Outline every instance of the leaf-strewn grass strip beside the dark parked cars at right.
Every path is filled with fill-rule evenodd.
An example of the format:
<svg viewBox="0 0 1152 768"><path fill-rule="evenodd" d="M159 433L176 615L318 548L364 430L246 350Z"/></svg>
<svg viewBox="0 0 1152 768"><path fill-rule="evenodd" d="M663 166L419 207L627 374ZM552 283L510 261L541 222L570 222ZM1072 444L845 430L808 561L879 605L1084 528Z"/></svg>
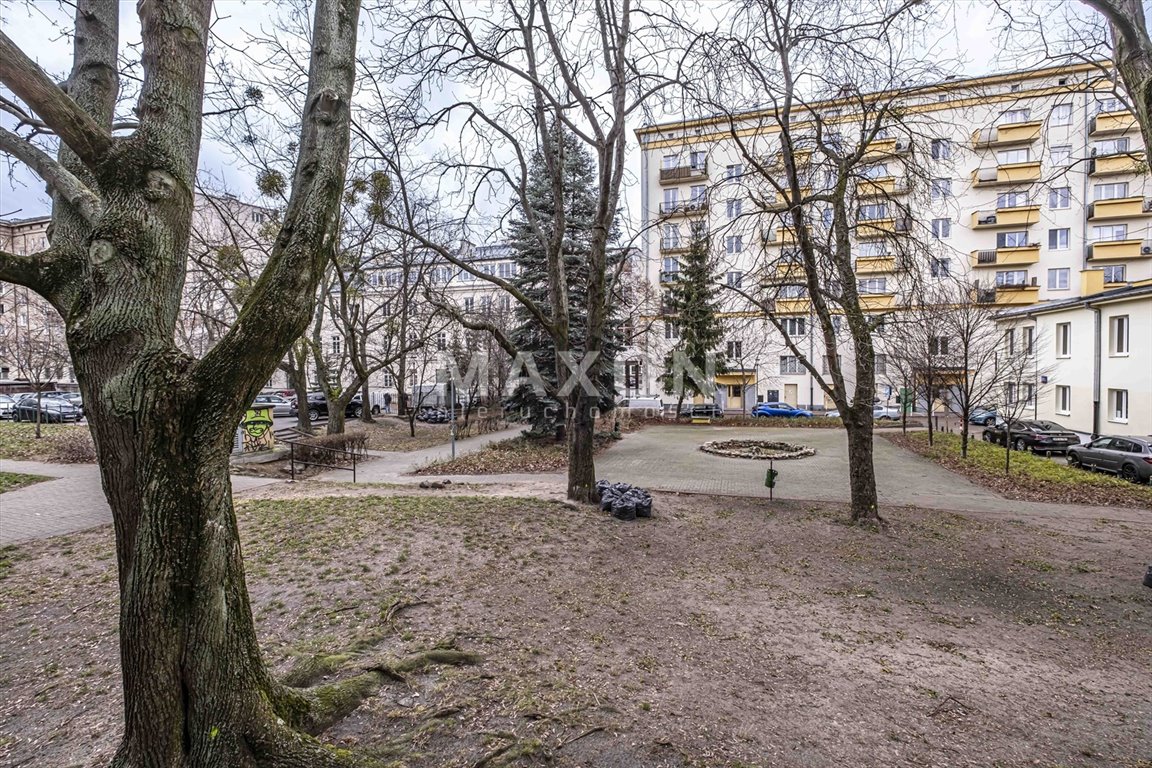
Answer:
<svg viewBox="0 0 1152 768"><path fill-rule="evenodd" d="M971 440L965 461L960 455L960 435L939 433L934 446L929 444L926 432L887 436L897 446L931 458L1008 499L1152 509L1152 486L1134 485L1111 474L1071 467L1029 451L1013 451L1010 472L1005 474L1005 449L1001 446Z"/></svg>

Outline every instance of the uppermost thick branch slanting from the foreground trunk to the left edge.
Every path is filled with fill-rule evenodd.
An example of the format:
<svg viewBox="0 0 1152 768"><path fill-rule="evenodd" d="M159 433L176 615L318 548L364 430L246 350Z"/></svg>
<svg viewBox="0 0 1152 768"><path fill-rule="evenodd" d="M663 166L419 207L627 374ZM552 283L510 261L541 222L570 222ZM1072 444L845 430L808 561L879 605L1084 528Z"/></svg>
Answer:
<svg viewBox="0 0 1152 768"><path fill-rule="evenodd" d="M0 32L0 83L31 107L89 168L94 168L112 147L112 137L96 120L3 32Z"/></svg>

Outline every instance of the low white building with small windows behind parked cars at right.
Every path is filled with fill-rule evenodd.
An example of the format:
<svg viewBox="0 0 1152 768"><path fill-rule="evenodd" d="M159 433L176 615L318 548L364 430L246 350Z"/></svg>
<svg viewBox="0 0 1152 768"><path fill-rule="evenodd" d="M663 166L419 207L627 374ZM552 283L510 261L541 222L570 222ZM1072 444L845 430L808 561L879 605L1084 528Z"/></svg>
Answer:
<svg viewBox="0 0 1152 768"><path fill-rule="evenodd" d="M1081 279L1076 298L999 315L1034 324L1036 416L1093 435L1152 435L1152 280L1105 290L1099 269Z"/></svg>

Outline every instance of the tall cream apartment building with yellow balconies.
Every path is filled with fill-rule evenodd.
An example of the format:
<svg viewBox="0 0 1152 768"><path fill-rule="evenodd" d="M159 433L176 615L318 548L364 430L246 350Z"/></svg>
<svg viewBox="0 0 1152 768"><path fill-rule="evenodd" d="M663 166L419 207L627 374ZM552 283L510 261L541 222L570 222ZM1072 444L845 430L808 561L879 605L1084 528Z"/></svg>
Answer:
<svg viewBox="0 0 1152 768"><path fill-rule="evenodd" d="M902 309L924 301L925 286L950 280L961 281L971 301L1011 311L1005 322L1043 326L1047 321L1040 318L1047 313L1015 310L1066 305L1152 280L1147 159L1135 116L1099 66L908 89L884 104L893 119L874 134L869 121L879 120L879 111L859 114L867 102L866 96L810 102L790 114L787 127L803 147L794 153L796 165L819 154L817 132L825 146L859 143L863 161L849 193L855 211L851 249L857 291L870 312L900 317ZM831 211L819 201L809 205L808 193L827 189L821 184L831 184L832 176L813 160L801 198L781 199L776 190L782 182L765 184L765 170L781 167L781 129L779 113L766 109L637 131L647 281L653 287L670 284L690 239L707 233L720 281L740 289L729 291L736 301L723 312L727 349L718 350L729 358L733 350L743 352L736 365L729 362L728 373L717 377L717 400L729 409L778 398L816 409L831 405L776 325L766 321L765 309L809 360L823 360L826 370L829 353L840 355L846 375L854 370L847 340L838 341L836 350L823 349L823 335L813 333L806 288L788 279L798 260L788 208L791 200L803 199L803 207L812 208L806 216L819 222L827 214L829 225ZM838 280L827 277L829 284ZM764 295L773 283L768 299L740 301L741 294ZM1147 311L1152 298L1140 291L1132 296L1137 314ZM655 333L642 379L649 394L658 394L664 353L677 330L675 318L662 317L658 307L651 307L651 314ZM900 332L899 322L881 327ZM1131 328L1138 333L1136 325ZM1054 336L1036 337L1034 353L1055 364ZM877 347L884 350L882 336ZM1089 345L1075 350L1069 359L1089 368ZM1123 373L1102 370L1101 375L1135 377L1139 383L1120 387L1105 380L1101 387L1128 389L1134 397L1144 393L1144 401L1132 401L1131 409L1146 413L1152 410L1146 398L1152 344L1139 344L1138 351L1134 344L1128 360ZM878 380L884 366L878 356ZM1038 370L1046 366L1046 359L1038 359ZM1049 403L1041 413L1055 415L1051 403L1056 387L1071 386L1060 382L1061 375L1047 375L1036 393L1037 403ZM887 386L877 391L881 400L892 394ZM1131 428L1138 424L1143 421L1128 421ZM1122 423L1112 426L1127 431ZM1146 426L1138 428L1147 433Z"/></svg>

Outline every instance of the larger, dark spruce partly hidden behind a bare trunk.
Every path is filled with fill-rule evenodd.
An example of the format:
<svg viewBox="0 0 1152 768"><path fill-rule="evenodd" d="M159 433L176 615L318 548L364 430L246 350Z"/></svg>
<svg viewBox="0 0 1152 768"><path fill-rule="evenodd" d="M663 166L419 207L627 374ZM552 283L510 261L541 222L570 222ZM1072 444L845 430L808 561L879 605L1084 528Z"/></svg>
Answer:
<svg viewBox="0 0 1152 768"><path fill-rule="evenodd" d="M570 351L578 359L586 349L588 333L588 257L591 250L592 225L596 221L596 166L588 149L567 131L561 131L560 140L564 158L563 164L563 253L564 274L568 283L568 304L571 317L569 332ZM528 178L528 198L544 227L555 222L554 196L552 178L540 152L532 158L531 173ZM545 317L552 317L548 294L547 257L541 246L540 237L523 218L511 221L508 244L516 263L516 277L513 283L524 295L544 311ZM547 234L547 230L546 230ZM545 237L547 239L547 237ZM622 251L608 254L608 273L613 274L619 260L624 258ZM600 391L599 408L609 411L615 405L615 358L623 339L620 333L620 309L609 307L607 327L612 330L604 339L600 352L600 367L593 383ZM516 305L513 318L510 340L516 348L532 356L536 368L550 385L556 381L556 349L548 333L531 313ZM523 371L515 372L523 374ZM528 433L535 436L560 435L564 424L564 405L555 398L540 393L529 383L518 386L505 401L505 410L529 424Z"/></svg>

